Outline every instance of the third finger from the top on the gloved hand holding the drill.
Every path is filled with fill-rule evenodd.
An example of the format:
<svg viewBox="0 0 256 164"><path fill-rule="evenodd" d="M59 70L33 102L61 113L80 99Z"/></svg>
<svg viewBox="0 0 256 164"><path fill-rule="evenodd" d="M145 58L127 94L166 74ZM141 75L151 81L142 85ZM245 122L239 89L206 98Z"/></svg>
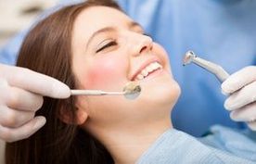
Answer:
<svg viewBox="0 0 256 164"><path fill-rule="evenodd" d="M251 103L237 110L230 112L230 118L236 121L252 121L256 120L256 103Z"/></svg>

